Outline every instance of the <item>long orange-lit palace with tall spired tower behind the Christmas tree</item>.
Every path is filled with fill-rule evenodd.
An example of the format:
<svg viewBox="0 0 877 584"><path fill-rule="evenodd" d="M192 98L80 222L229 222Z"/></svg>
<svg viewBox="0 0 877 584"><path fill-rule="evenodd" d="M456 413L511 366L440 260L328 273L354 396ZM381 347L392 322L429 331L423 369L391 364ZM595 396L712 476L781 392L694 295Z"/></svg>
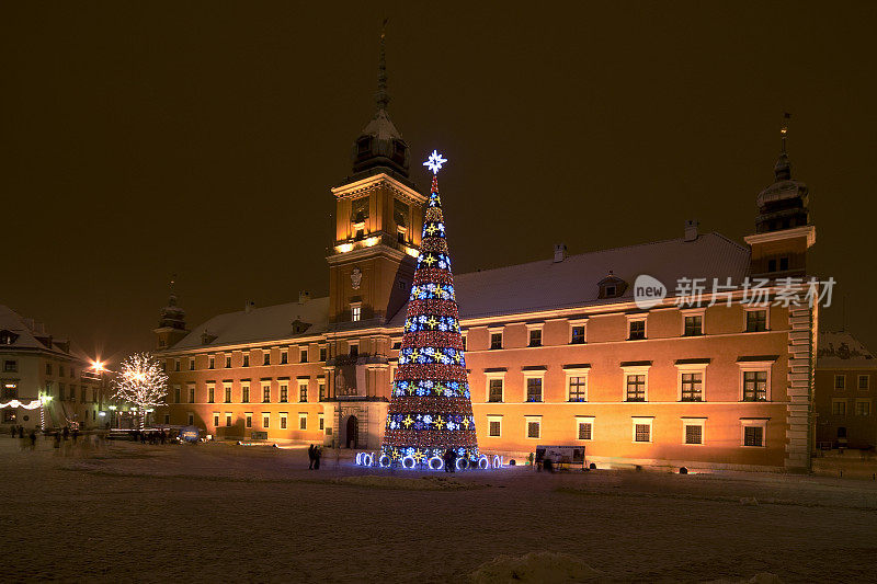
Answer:
<svg viewBox="0 0 877 584"><path fill-rule="evenodd" d="M219 438L379 448L426 202L385 80L381 65L353 174L331 188L329 296L248 304L192 330L172 298L156 329L171 385L158 420ZM457 274L481 450L582 445L599 465L807 469L817 309L753 307L739 289L713 306L674 297L682 278L758 276L773 298L781 278L807 274L807 187L785 151L774 175L743 243L688 221L664 241L580 255L558 245L544 261ZM634 298L643 274L669 291L649 308Z"/></svg>

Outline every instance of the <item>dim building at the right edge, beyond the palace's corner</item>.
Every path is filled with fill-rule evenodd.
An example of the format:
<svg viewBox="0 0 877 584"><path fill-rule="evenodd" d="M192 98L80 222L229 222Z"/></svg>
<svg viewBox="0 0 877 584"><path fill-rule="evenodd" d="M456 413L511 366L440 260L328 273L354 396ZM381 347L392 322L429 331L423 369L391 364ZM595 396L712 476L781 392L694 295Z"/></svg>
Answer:
<svg viewBox="0 0 877 584"><path fill-rule="evenodd" d="M820 332L816 364L816 440L820 448L874 448L877 359L847 332Z"/></svg>

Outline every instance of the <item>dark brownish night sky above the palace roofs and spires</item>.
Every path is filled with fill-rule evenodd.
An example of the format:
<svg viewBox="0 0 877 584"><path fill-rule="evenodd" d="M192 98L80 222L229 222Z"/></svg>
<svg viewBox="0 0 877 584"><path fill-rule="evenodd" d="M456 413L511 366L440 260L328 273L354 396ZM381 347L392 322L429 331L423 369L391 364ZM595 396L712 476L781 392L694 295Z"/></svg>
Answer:
<svg viewBox="0 0 877 584"><path fill-rule="evenodd" d="M742 241L791 112L811 266L877 350L877 7L740 4L3 2L0 302L121 357L152 346L174 272L190 325L327 294L329 188L374 112L386 15L412 167L451 160L456 272L692 217Z"/></svg>

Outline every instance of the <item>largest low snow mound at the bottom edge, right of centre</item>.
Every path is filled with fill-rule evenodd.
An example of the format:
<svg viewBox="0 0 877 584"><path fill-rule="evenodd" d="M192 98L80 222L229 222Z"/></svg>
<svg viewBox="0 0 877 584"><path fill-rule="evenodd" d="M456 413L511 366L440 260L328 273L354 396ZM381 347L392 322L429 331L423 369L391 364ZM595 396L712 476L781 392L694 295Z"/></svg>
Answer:
<svg viewBox="0 0 877 584"><path fill-rule="evenodd" d="M532 551L525 556L497 556L469 574L475 584L591 582L604 577L579 558L567 553Z"/></svg>

